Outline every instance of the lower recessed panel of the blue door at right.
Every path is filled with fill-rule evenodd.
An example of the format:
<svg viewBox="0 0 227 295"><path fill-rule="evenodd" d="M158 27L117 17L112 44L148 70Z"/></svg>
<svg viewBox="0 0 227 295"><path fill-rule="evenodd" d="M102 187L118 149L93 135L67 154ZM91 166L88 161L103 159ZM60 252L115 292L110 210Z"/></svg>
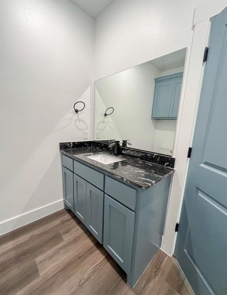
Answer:
<svg viewBox="0 0 227 295"><path fill-rule="evenodd" d="M210 196L197 190L196 207L185 249L206 280L212 282L213 289L216 291L221 282L220 279L213 280L214 273L210 270L212 266L212 269L216 269L215 277L225 280L223 270L227 266L220 252L225 253L227 251L225 249L227 244L222 243L220 237L225 233L227 234L227 231L224 230L223 232L223 226L220 225L226 224L226 217L226 212L221 206L218 206ZM204 259L204 257L207 257L207 259Z"/></svg>

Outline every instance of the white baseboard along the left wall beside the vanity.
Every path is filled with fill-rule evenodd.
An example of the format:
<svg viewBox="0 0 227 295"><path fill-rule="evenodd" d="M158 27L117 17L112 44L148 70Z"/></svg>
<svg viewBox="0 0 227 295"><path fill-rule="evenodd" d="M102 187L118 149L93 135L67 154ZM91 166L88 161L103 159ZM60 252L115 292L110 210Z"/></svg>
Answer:
<svg viewBox="0 0 227 295"><path fill-rule="evenodd" d="M64 208L63 199L0 222L0 236Z"/></svg>

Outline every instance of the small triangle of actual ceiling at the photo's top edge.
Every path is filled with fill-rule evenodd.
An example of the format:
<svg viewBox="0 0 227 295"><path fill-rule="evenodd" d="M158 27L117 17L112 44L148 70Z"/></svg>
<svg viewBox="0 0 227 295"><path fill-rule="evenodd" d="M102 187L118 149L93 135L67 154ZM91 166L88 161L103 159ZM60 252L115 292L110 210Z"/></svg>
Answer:
<svg viewBox="0 0 227 295"><path fill-rule="evenodd" d="M81 10L96 18L113 0L70 0Z"/></svg>

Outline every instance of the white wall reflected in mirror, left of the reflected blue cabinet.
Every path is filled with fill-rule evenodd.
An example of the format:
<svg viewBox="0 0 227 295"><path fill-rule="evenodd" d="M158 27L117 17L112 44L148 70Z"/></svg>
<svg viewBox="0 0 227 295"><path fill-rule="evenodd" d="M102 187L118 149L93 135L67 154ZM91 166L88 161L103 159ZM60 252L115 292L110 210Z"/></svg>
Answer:
<svg viewBox="0 0 227 295"><path fill-rule="evenodd" d="M153 150L155 121L151 119L155 78L162 72L150 62L95 83L95 139L130 139L133 148ZM114 108L111 116L103 114Z"/></svg>

